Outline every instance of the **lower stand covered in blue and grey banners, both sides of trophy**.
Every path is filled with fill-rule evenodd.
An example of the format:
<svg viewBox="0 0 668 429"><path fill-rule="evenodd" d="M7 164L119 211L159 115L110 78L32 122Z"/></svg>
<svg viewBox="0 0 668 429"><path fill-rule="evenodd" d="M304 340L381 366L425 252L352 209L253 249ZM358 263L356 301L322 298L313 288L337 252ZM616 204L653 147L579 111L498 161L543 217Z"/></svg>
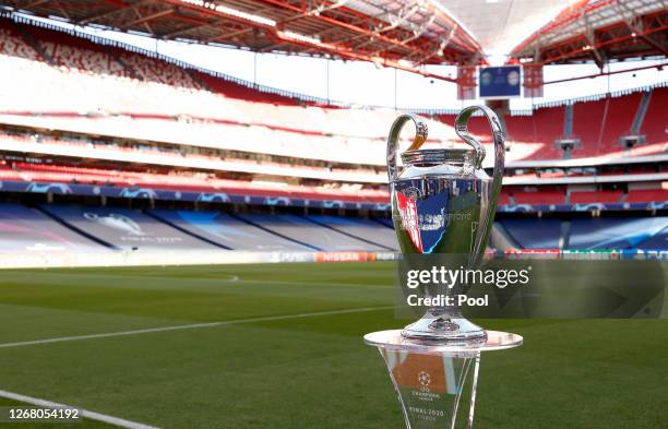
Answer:
<svg viewBox="0 0 668 429"><path fill-rule="evenodd" d="M143 214L121 207L72 205L43 205L37 211L20 204L0 204L0 250L383 251L395 248L394 234L386 227L389 219L377 221L182 210ZM498 224L523 249L663 249L668 239L666 216L505 218Z"/></svg>

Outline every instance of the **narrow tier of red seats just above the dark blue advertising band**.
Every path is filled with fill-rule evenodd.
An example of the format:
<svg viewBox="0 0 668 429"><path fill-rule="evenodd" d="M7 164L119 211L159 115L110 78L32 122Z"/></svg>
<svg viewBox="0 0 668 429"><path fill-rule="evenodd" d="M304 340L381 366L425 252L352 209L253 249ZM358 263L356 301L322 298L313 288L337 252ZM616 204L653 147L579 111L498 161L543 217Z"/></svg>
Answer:
<svg viewBox="0 0 668 429"><path fill-rule="evenodd" d="M287 182L243 181L218 178L211 172L188 170L163 170L148 172L122 170L118 166L110 168L77 167L72 165L33 164L13 162L0 163L0 179L23 182L24 188L31 183L44 183L47 187L88 184L122 189L168 190L171 192L225 193L229 195L255 195L261 198L295 198L312 201L347 201L350 203L386 204L387 191L384 189L324 183L320 186L289 184ZM636 174L641 175L640 170ZM646 174L648 178L651 172ZM563 177L557 175L551 177ZM625 176L621 175L620 178ZM499 204L504 205L563 205L587 203L665 203L668 190L660 182L648 181L645 184L624 190L596 190L583 186L506 186L503 188Z"/></svg>

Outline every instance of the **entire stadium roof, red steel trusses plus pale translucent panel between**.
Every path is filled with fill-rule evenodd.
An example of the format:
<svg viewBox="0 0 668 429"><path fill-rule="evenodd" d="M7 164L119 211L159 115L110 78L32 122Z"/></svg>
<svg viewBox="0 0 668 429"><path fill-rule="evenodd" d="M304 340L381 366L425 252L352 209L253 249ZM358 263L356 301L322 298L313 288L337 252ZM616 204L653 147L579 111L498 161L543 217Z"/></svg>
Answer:
<svg viewBox="0 0 668 429"><path fill-rule="evenodd" d="M451 80L421 65L476 64L486 62L486 55L508 53L541 63L594 60L599 67L611 58L667 56L667 1L570 0L565 10L564 1L535 0L1 3L12 11L160 39L372 61Z"/></svg>

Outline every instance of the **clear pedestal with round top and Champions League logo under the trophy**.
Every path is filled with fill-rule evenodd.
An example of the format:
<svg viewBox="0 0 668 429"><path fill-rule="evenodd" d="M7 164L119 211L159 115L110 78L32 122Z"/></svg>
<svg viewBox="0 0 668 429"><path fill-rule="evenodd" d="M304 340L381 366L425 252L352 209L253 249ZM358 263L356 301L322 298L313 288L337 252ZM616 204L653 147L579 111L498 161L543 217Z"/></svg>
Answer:
<svg viewBox="0 0 668 429"><path fill-rule="evenodd" d="M461 342L406 338L399 330L365 335L387 366L407 429L470 429L480 354L517 347L522 341L497 331L487 331L484 341Z"/></svg>

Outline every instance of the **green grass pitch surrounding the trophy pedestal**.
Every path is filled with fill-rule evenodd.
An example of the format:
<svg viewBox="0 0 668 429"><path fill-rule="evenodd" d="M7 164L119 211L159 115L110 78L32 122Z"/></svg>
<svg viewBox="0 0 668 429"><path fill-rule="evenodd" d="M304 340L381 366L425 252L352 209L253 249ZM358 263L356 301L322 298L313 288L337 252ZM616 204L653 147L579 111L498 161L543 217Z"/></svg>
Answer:
<svg viewBox="0 0 668 429"><path fill-rule="evenodd" d="M361 339L406 324L389 309L394 275L381 262L1 271L0 390L160 428L403 428ZM235 323L8 346L222 321ZM666 426L667 321L478 322L525 344L482 356L476 428Z"/></svg>

